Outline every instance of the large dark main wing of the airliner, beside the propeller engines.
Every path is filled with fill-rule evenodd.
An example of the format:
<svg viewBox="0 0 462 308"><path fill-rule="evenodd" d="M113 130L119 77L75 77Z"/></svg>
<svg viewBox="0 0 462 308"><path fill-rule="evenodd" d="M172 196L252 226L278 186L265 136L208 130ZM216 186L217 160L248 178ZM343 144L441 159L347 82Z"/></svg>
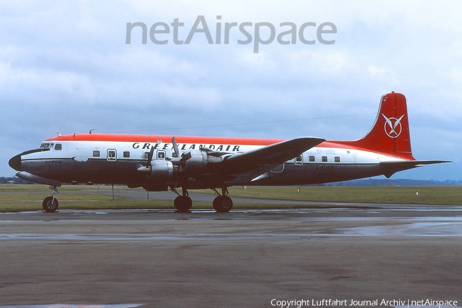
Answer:
<svg viewBox="0 0 462 308"><path fill-rule="evenodd" d="M324 141L301 137L228 156L220 164L220 173L227 184L251 181Z"/></svg>

